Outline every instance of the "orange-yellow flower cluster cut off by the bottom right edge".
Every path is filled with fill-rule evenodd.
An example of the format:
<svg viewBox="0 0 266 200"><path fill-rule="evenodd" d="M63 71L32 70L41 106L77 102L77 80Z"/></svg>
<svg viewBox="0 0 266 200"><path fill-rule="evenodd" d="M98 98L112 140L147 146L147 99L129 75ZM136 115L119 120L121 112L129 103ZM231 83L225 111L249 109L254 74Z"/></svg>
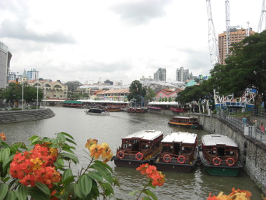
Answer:
<svg viewBox="0 0 266 200"><path fill-rule="evenodd" d="M250 200L251 192L240 190L235 188L232 188L232 192L229 195L223 194L223 192L220 192L218 196L211 196L211 193L209 194L209 197L207 200L229 200L229 199L237 199L237 200Z"/></svg>

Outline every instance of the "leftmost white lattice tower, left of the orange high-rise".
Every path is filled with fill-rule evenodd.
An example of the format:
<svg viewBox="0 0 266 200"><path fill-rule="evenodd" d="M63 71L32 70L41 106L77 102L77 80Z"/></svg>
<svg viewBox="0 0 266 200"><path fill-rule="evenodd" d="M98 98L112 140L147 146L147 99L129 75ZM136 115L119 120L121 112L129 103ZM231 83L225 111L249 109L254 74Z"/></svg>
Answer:
<svg viewBox="0 0 266 200"><path fill-rule="evenodd" d="M208 13L208 27L209 27L209 53L211 57L211 67L214 67L219 62L219 53L218 53L218 45L217 45L217 36L214 29L214 22L212 20L211 14L211 2L210 0L206 0L207 4L207 13Z"/></svg>

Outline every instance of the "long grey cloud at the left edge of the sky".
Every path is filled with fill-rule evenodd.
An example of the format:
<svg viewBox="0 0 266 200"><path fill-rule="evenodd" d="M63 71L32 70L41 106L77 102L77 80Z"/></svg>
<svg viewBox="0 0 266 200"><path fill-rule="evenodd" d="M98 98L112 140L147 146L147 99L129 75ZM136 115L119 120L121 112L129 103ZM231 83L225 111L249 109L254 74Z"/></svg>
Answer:
<svg viewBox="0 0 266 200"><path fill-rule="evenodd" d="M13 39L22 39L30 41L40 41L55 44L73 44L75 39L72 36L63 34L62 32L37 33L27 28L23 20L3 20L0 26L0 37Z"/></svg>

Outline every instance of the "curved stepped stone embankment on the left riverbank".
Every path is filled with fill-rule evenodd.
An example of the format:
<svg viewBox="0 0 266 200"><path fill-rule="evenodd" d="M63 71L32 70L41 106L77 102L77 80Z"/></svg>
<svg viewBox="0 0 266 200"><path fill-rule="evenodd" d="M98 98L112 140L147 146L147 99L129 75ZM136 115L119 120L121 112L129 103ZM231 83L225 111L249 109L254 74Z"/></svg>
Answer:
<svg viewBox="0 0 266 200"><path fill-rule="evenodd" d="M55 116L50 108L0 111L0 124L33 121Z"/></svg>

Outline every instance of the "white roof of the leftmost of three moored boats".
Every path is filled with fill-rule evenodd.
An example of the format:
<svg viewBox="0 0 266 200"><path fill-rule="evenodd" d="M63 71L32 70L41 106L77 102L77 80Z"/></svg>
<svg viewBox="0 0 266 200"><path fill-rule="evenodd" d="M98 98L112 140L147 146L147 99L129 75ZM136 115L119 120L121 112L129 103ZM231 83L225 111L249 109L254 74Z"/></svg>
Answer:
<svg viewBox="0 0 266 200"><path fill-rule="evenodd" d="M129 140L129 139L139 139L139 140L155 140L160 135L163 135L162 131L155 131L155 130L146 130L146 131L139 131L136 133L132 133L131 135L122 138L122 140Z"/></svg>

